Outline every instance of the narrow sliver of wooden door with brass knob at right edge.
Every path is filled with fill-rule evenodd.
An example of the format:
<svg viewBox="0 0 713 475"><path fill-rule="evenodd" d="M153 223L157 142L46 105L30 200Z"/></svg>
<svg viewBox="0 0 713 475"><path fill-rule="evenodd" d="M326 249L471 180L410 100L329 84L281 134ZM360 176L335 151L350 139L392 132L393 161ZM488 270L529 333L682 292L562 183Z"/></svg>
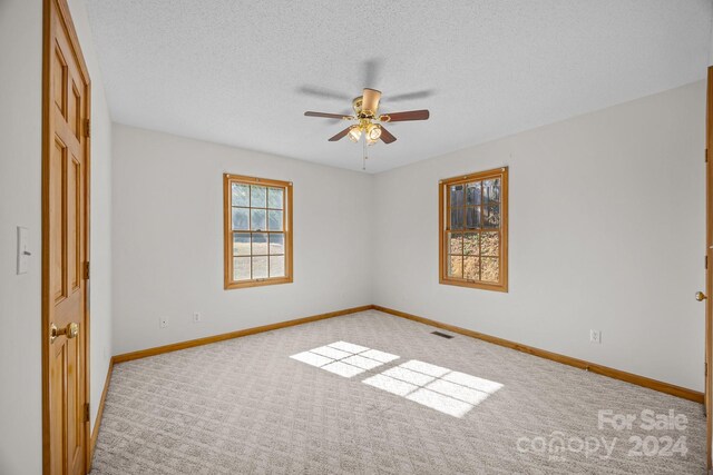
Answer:
<svg viewBox="0 0 713 475"><path fill-rule="evenodd" d="M713 170L711 150L713 150L713 67L709 68L705 123L705 294L696 293L699 301L705 301L705 416L706 416L706 464L711 468L711 444L713 444L713 407L711 395L711 358L713 357Z"/></svg>

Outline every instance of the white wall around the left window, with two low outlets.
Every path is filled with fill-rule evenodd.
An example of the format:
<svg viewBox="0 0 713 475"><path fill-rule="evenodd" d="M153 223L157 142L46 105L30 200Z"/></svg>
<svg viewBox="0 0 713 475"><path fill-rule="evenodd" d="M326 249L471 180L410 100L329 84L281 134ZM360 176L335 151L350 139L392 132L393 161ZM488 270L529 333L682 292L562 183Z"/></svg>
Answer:
<svg viewBox="0 0 713 475"><path fill-rule="evenodd" d="M294 283L223 289L224 172L294 184ZM116 354L371 304L372 177L120 125L113 174Z"/></svg>

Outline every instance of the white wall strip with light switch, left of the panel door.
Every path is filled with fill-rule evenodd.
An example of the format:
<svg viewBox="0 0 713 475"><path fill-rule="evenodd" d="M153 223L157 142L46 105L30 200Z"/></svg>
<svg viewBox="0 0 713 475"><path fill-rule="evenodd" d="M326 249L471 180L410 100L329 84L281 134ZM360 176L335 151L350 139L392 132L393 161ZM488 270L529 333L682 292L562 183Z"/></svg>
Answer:
<svg viewBox="0 0 713 475"><path fill-rule="evenodd" d="M0 473L42 467L40 217L42 3L0 1ZM33 256L16 275L17 226Z"/></svg>

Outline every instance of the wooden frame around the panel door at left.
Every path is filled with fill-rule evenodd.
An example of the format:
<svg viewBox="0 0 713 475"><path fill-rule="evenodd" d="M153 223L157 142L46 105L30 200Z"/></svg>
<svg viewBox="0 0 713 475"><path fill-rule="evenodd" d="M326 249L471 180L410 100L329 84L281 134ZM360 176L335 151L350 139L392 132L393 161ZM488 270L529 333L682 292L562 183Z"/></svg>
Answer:
<svg viewBox="0 0 713 475"><path fill-rule="evenodd" d="M50 276L50 261L49 261L49 164L50 164L50 152L53 144L53 137L50 136L50 131L52 130L51 123L53 120L53 108L51 99L51 55L53 51L53 36L52 36L52 22L53 19L57 18L67 29L67 33L69 37L69 43L75 55L75 59L79 67L79 72L81 75L81 80L84 81L85 88L85 107L84 112L87 120L91 117L91 80L89 78L89 70L87 68L87 63L85 62L84 55L81 52L81 47L79 44L79 38L77 37L77 31L75 29L75 24L71 20L71 14L69 12L69 6L67 4L67 0L43 0L42 1L42 316L41 316L41 352L42 352L42 473L50 473L50 394L49 394L49 358L50 358L50 343L49 343L49 313L50 313L50 288L49 288L49 276ZM88 135L88 133L87 133ZM89 237L90 237L90 182L91 182L91 160L90 160L90 151L91 151L91 140L89 137L85 138L85 174L84 174L84 190L85 190L85 201L82 215L85 219L85 231L84 231L84 255L86 257L86 264L89 261ZM90 402L90 387L89 387L89 336L90 336L90 317L89 317L89 280L87 275L82 275L85 285L85 307L84 307L84 321L80 325L81 331L85 337L85 348L84 348L84 388L85 388L85 404L89 404ZM88 417L91 419L91 417ZM85 444L84 444L84 457L85 457L85 466L87 472L91 468L91 449L90 449L90 420L85 420L84 423L84 432L85 432Z"/></svg>

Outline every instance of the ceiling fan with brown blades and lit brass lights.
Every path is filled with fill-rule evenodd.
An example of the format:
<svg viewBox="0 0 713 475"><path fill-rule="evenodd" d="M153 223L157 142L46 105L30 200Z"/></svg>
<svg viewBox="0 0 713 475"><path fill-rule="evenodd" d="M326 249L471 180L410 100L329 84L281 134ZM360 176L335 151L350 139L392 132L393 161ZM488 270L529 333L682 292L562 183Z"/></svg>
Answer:
<svg viewBox="0 0 713 475"><path fill-rule="evenodd" d="M381 91L364 88L362 96L352 100L352 109L354 109L353 116L312 111L304 112L304 115L307 117L323 117L326 119L353 121L353 125L330 138L329 141L338 141L346 136L351 141L358 142L363 135L367 145L374 145L379 139L384 144L391 144L397 140L397 138L383 127L383 123L403 122L407 120L427 120L430 115L427 109L380 115L380 100Z"/></svg>

